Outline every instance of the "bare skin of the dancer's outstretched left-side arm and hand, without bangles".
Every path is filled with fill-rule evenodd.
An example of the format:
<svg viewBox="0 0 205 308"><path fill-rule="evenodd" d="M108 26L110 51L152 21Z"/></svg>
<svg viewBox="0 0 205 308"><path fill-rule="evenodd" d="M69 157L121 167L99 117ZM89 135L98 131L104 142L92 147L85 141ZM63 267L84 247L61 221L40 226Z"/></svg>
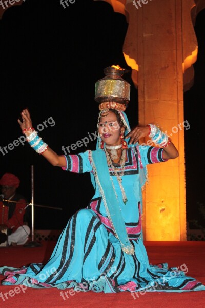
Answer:
<svg viewBox="0 0 205 308"><path fill-rule="evenodd" d="M33 129L29 129L32 128L32 121L28 109L24 109L21 115L22 115L22 121L18 119L18 124L20 125L22 131L27 129L25 131L25 135L26 137L28 137L33 132ZM41 155L44 156L47 159L47 161L51 163L53 166L64 167L64 168L67 166L65 156L57 155L57 153L54 152L50 147L48 147L46 151L43 152Z"/></svg>

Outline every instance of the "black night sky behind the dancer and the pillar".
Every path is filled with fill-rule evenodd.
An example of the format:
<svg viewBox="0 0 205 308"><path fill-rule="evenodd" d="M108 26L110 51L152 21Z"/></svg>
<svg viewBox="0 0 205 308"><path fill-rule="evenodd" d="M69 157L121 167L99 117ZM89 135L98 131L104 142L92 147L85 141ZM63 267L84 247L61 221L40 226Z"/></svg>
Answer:
<svg viewBox="0 0 205 308"><path fill-rule="evenodd" d="M198 59L195 79L185 92L187 220L204 225L204 102L205 10L196 20ZM103 69L119 65L130 70L126 111L131 126L138 124L137 89L122 53L128 23L103 1L76 0L66 9L60 1L27 0L5 11L0 20L1 140L4 148L22 136L17 119L28 107L39 136L58 154L96 131L98 105L94 85ZM45 122L47 121L47 122ZM46 123L46 124L45 124ZM47 126L47 127L46 127ZM40 131L41 130L41 131ZM95 149L96 140L72 151ZM70 174L53 167L26 142L0 152L0 177L12 172L18 191L31 202L31 166L34 167L34 203L63 210L35 207L35 229L63 229L69 217L87 206L93 188L89 174Z"/></svg>

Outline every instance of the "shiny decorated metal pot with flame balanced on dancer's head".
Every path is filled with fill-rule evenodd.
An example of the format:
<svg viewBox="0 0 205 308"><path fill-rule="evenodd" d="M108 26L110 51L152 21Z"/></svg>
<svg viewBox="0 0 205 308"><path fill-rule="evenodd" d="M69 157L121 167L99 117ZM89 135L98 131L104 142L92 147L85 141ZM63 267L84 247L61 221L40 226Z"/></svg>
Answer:
<svg viewBox="0 0 205 308"><path fill-rule="evenodd" d="M125 105L130 101L130 84L122 78L126 69L109 66L104 69L105 77L95 83L95 101L117 102Z"/></svg>

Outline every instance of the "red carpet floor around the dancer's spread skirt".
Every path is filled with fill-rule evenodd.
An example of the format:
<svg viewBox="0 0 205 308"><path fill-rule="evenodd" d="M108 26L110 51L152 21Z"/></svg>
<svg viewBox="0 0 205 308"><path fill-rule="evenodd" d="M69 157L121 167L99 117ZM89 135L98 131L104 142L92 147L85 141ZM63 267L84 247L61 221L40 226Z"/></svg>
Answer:
<svg viewBox="0 0 205 308"><path fill-rule="evenodd" d="M0 248L0 265L20 267L29 263L45 263L50 257L56 242L42 242L41 247ZM205 284L205 242L145 242L149 261L152 264L168 262L170 267L181 267ZM0 275L0 280L4 276ZM24 286L25 287L25 286ZM80 308L204 308L205 291L188 293L147 292L138 294L135 299L130 292L105 294L79 292L60 295L56 288L35 290L19 286L0 286L0 307L80 307ZM61 293L62 294L62 293Z"/></svg>

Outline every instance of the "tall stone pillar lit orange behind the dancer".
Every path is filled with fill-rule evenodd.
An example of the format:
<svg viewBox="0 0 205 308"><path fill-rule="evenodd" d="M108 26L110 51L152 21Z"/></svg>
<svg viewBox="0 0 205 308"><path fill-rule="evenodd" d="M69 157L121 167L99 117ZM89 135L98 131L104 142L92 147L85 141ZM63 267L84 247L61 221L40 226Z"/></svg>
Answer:
<svg viewBox="0 0 205 308"><path fill-rule="evenodd" d="M139 125L167 131L179 157L148 166L144 236L148 241L186 240L183 90L193 81L197 40L193 0L106 0L129 23L123 52L138 87ZM200 0L198 1L199 4ZM186 74L186 70L188 74ZM187 89L189 88L187 87ZM132 102L133 103L133 102ZM141 142L147 142L141 140Z"/></svg>

